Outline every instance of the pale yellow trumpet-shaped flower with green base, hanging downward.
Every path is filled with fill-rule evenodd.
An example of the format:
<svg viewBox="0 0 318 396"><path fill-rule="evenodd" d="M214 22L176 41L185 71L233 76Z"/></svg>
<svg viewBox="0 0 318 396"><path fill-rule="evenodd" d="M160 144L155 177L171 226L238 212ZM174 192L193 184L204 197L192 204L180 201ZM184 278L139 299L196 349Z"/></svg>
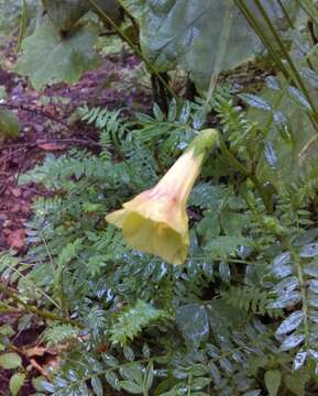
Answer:
<svg viewBox="0 0 318 396"><path fill-rule="evenodd" d="M138 195L106 217L122 229L127 243L158 255L171 264L183 264L188 254L189 230L186 204L218 132L207 129L151 189Z"/></svg>

